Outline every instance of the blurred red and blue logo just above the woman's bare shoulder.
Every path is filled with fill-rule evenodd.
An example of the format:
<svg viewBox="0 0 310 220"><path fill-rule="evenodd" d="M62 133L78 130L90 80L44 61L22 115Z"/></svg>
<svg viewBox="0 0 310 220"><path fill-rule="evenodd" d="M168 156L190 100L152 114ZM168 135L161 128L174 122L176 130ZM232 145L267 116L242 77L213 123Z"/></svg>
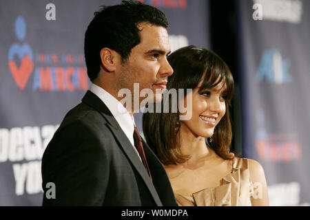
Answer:
<svg viewBox="0 0 310 220"><path fill-rule="evenodd" d="M297 133L269 133L265 123L265 113L256 112L255 146L260 159L267 162L290 162L300 160L302 150Z"/></svg>

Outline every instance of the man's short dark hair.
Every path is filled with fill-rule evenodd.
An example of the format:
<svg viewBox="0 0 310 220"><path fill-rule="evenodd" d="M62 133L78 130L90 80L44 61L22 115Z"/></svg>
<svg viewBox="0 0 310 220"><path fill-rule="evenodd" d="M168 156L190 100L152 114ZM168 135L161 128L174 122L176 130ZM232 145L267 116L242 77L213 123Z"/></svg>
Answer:
<svg viewBox="0 0 310 220"><path fill-rule="evenodd" d="M94 13L94 19L85 32L84 54L90 80L94 80L99 73L103 47L118 52L125 63L132 48L141 42L141 30L137 28L139 23L163 28L168 26L163 12L138 1L122 1L120 5L101 7L99 12Z"/></svg>

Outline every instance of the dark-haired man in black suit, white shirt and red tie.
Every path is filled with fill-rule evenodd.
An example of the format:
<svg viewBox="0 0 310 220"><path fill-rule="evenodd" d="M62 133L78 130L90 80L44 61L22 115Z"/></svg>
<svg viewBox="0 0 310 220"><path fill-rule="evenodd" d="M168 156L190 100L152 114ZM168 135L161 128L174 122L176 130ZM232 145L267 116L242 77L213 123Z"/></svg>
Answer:
<svg viewBox="0 0 310 220"><path fill-rule="evenodd" d="M177 205L163 166L136 133L136 109L118 97L127 89L134 100L134 83L161 97L173 73L167 25L163 12L134 1L95 13L84 45L92 85L45 149L43 206ZM49 182L55 199L46 197Z"/></svg>

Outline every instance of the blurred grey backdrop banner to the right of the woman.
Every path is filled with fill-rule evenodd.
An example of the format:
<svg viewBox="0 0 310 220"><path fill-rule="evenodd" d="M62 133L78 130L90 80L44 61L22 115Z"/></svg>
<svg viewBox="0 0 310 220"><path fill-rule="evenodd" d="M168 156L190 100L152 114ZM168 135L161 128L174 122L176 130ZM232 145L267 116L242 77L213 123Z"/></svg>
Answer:
<svg viewBox="0 0 310 220"><path fill-rule="evenodd" d="M271 206L310 204L310 1L238 1L243 155Z"/></svg>

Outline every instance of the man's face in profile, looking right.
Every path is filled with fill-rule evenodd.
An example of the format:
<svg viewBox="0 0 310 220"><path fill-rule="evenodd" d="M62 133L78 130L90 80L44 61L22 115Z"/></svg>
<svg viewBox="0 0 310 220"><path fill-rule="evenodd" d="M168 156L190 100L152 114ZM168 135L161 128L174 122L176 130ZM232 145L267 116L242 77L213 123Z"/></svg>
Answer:
<svg viewBox="0 0 310 220"><path fill-rule="evenodd" d="M127 88L134 94L134 83L138 83L140 91L152 89L154 101L160 101L167 78L173 73L167 61L170 52L168 33L165 28L149 23L139 24L138 29L141 30L141 42L132 48L126 63L120 67L118 89ZM145 97L139 98L140 101L143 99Z"/></svg>

